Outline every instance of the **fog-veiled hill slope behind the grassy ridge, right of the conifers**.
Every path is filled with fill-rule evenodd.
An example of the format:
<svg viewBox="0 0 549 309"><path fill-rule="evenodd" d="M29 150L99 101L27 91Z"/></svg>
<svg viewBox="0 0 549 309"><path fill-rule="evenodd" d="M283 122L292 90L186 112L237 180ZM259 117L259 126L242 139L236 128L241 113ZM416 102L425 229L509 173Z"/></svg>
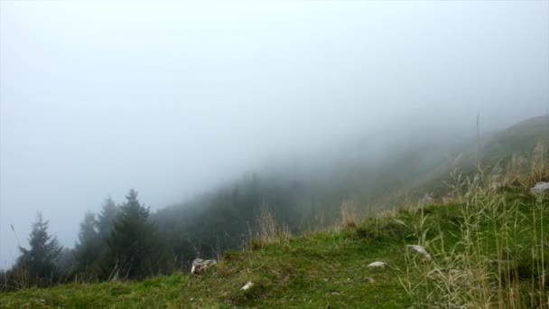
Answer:
<svg viewBox="0 0 549 309"><path fill-rule="evenodd" d="M498 163L511 169L507 165L513 155L524 157L523 165L529 163L535 146L548 136L549 117L535 117L483 137L482 166L489 169ZM427 192L435 198L444 196L450 190L445 182L451 181L454 170L470 176L479 173L474 138L451 142L452 136L440 134L414 138L386 145L385 153L378 152L375 160L350 154L352 159L337 163L279 166L247 175L157 211L154 220L172 244L178 262L188 267L195 257L214 257L227 248L240 248L265 207L299 234L338 224L344 201L358 215L368 215L419 201ZM361 143L349 148L368 149L368 141ZM545 151L549 153L549 146ZM520 172L529 168L522 166Z"/></svg>

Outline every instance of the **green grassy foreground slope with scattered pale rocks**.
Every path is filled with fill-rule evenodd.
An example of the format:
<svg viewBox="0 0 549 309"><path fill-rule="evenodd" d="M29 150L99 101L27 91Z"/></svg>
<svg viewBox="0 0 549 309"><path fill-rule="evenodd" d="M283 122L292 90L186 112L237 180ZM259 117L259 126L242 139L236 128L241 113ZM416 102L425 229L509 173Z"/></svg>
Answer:
<svg viewBox="0 0 549 309"><path fill-rule="evenodd" d="M271 235L226 252L199 276L30 288L0 295L0 307L546 307L548 211L547 197L524 190L477 192L352 228ZM418 243L433 260L405 247ZM377 260L387 267L367 267ZM254 286L240 290L248 281ZM528 291L541 296L527 298Z"/></svg>

